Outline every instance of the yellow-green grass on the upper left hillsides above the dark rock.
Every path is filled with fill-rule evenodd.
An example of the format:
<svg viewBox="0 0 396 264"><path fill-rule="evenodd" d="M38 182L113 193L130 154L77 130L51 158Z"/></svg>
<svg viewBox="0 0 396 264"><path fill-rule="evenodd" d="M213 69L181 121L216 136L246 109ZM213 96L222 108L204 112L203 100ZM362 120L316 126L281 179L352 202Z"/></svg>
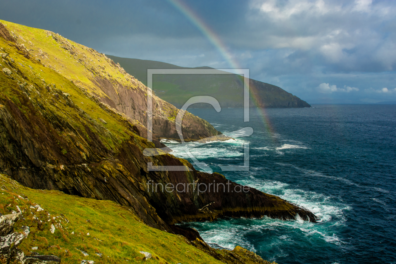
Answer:
<svg viewBox="0 0 396 264"><path fill-rule="evenodd" d="M103 95L103 92L89 80L86 67L76 63L76 59L72 60L69 57L70 53L60 47L63 45L58 44L45 30L29 28L6 21L1 22L6 24L7 28L17 36L19 42L25 42L25 47L28 49L30 48L30 55L34 56L32 59L25 58L22 52L18 51L12 45L8 45L8 42L0 38L0 47L2 48L0 52L10 54L5 60L0 60L0 67L19 70L19 72L13 71L11 74L14 80L11 80L8 76L3 74L3 72L0 72L0 82L2 84L0 86L1 99L5 99L6 97L11 99L28 119L30 112L29 107L31 109L39 109L37 105L41 104L45 107L44 110L39 110L41 113L46 112L47 114L55 114L80 131L85 131L85 127L89 127L91 131L95 131L92 122L81 118L75 108L73 109L67 106L65 97L60 95L59 99L57 99L54 96L59 95L59 91L68 93L69 96L67 98L69 98L74 105L89 114L91 118L103 126L105 131L109 132L97 133L107 148L116 150L116 146L120 145L122 141L129 140L129 132L126 132L129 127L128 121L113 112L103 110L93 101L91 94L86 91L97 93L102 96L105 95ZM57 35L54 36L59 39L61 38ZM70 42L64 38L62 39L63 42ZM104 55L91 51L88 52L88 48L74 42L70 43L75 47L74 50L80 57L85 56L84 59L91 64L89 66L93 65L93 68L104 68L113 76L120 75L123 77L122 80L125 79L124 75L118 70L115 70L116 67L109 66L110 63L105 61L106 58ZM40 57L38 54L41 54L41 51L45 52L48 58ZM91 62L89 59L90 56L92 58L101 58L102 64L99 62L96 63L95 61ZM11 63L11 59L15 62ZM41 62L38 62L36 59L40 59ZM8 66L7 63L11 64L12 67ZM49 65L54 68L49 67ZM58 68L60 69L59 72L57 72ZM72 81L65 77L67 75L73 76L73 78L71 78ZM26 76L26 78L23 78L23 76ZM24 84L25 82L27 84L25 85L25 89L29 93L28 98L24 96L24 93L19 88L19 84ZM121 78L120 82L122 83ZM129 82L128 86L130 85L131 82ZM49 87L49 91L46 87ZM39 114L40 112L37 113ZM107 124L102 124L98 121L99 118L103 118ZM64 136L67 138L67 135ZM90 139L88 135L85 136L86 141L89 142ZM135 137L137 136L135 135ZM68 149L65 146L60 146L60 148L63 154L67 154Z"/></svg>

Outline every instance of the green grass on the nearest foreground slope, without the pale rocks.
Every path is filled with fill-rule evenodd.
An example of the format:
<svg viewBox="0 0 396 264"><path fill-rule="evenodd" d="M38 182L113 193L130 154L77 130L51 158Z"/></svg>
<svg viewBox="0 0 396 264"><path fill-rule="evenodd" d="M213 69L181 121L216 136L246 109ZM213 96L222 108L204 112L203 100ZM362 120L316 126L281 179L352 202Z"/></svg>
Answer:
<svg viewBox="0 0 396 264"><path fill-rule="evenodd" d="M150 228L128 208L112 201L33 190L5 175L0 175L0 188L0 213L17 211L18 205L24 219L15 224L14 230L21 226L30 227L29 236L19 246L25 255L31 252L53 254L62 258L62 264L80 264L82 259L96 263L221 263L188 245L182 236ZM36 204L44 211L30 209ZM34 216L37 219L33 219ZM56 226L54 234L50 232L51 224ZM32 247L38 249L32 250ZM89 256L82 255L76 248ZM147 251L153 257L143 261L139 251ZM95 253L103 255L99 257Z"/></svg>

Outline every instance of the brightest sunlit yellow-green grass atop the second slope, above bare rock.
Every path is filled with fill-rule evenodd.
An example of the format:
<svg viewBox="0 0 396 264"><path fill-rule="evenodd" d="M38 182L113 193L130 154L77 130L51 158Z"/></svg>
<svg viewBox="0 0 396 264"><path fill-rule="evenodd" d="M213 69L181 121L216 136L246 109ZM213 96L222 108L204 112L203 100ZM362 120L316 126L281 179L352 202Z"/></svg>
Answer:
<svg viewBox="0 0 396 264"><path fill-rule="evenodd" d="M125 78L120 68L112 66L105 55L93 49L47 30L26 27L3 20L0 20L0 22L5 24L11 34L17 38L17 41L29 50L34 59L40 59L48 70L59 72L59 74L84 86L89 91L105 96L103 91L90 80L97 74L102 76L110 74L112 78L115 78L121 84L132 85L127 82L129 79ZM74 55L71 55L70 51L63 47L68 47L74 52ZM27 59L25 60L28 61ZM94 73L89 71L89 69L93 69Z"/></svg>

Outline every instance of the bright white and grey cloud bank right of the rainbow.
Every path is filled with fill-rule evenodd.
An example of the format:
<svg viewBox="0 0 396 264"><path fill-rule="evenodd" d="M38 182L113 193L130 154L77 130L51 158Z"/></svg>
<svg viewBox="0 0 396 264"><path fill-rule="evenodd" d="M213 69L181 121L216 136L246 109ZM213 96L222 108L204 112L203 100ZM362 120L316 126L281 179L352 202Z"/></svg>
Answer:
<svg viewBox="0 0 396 264"><path fill-rule="evenodd" d="M392 71L396 69L395 4L372 0L251 0L244 27L246 37L230 41L252 50L290 49L295 55L303 52L300 56L309 60L312 70ZM304 65L295 67L299 72ZM284 74L290 74L290 69Z"/></svg>

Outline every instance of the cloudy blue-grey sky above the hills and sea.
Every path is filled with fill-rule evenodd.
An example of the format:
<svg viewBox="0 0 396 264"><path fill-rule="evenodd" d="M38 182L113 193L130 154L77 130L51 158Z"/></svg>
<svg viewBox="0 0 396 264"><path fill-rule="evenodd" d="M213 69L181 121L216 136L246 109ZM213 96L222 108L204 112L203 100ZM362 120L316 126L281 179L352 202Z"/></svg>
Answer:
<svg viewBox="0 0 396 264"><path fill-rule="evenodd" d="M248 68L310 104L396 101L396 1L5 0L0 19L118 57Z"/></svg>

